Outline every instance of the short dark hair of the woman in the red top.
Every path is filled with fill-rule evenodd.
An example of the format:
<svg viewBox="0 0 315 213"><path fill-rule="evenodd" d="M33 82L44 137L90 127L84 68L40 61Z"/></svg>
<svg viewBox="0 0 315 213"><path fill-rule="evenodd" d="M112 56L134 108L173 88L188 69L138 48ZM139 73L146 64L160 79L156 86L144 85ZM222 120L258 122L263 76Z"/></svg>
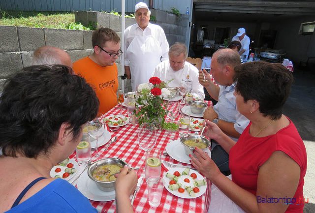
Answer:
<svg viewBox="0 0 315 213"><path fill-rule="evenodd" d="M245 63L234 68L235 91L244 101L256 100L259 111L266 117L279 119L290 94L293 75L282 64L268 62Z"/></svg>

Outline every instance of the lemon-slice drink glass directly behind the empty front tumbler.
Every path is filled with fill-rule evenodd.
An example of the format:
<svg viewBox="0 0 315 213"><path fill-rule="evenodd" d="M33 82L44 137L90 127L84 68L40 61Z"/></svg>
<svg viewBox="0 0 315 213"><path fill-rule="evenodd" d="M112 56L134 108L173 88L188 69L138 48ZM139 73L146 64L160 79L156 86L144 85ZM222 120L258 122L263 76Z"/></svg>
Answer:
<svg viewBox="0 0 315 213"><path fill-rule="evenodd" d="M161 151L159 149L150 149L146 151L146 180L152 176L161 175Z"/></svg>

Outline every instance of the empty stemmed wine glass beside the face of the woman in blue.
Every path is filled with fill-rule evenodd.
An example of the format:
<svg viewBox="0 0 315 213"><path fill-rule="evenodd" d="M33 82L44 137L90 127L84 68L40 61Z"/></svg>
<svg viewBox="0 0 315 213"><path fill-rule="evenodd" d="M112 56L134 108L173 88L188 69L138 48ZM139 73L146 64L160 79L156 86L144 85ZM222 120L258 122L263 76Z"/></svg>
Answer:
<svg viewBox="0 0 315 213"><path fill-rule="evenodd" d="M89 135L96 140L96 155L95 157L99 157L98 154L98 139L102 137L104 134L103 124L101 123L102 113L97 112L96 117L88 123L88 132Z"/></svg>

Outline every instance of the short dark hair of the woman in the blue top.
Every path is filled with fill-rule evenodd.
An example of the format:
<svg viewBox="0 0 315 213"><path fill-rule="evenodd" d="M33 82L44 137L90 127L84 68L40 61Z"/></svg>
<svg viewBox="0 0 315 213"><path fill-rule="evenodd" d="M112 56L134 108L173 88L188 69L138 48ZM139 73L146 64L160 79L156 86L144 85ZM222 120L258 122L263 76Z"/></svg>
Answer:
<svg viewBox="0 0 315 213"><path fill-rule="evenodd" d="M0 148L4 156L36 158L58 139L63 123L73 140L98 110L95 91L71 68L31 66L7 79L0 97Z"/></svg>

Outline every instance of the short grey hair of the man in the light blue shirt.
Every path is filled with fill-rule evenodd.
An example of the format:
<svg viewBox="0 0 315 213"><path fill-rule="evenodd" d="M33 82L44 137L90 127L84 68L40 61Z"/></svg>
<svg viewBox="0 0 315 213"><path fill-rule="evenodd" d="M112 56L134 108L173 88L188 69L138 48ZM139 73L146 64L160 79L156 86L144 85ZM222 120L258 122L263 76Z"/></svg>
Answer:
<svg viewBox="0 0 315 213"><path fill-rule="evenodd" d="M218 64L223 67L229 65L231 67L236 67L241 64L240 55L229 48L219 49L213 55L212 58L216 57Z"/></svg>

